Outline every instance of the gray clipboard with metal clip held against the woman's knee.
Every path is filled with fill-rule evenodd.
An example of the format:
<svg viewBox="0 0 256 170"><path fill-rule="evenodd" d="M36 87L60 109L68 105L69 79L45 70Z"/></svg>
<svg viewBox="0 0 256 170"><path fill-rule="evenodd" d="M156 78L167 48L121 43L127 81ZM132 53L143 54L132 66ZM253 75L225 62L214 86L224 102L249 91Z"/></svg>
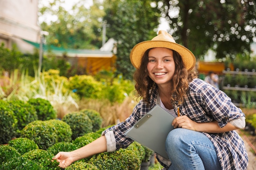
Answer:
<svg viewBox="0 0 256 170"><path fill-rule="evenodd" d="M168 159L165 141L168 133L173 130L173 119L173 115L156 105L124 134Z"/></svg>

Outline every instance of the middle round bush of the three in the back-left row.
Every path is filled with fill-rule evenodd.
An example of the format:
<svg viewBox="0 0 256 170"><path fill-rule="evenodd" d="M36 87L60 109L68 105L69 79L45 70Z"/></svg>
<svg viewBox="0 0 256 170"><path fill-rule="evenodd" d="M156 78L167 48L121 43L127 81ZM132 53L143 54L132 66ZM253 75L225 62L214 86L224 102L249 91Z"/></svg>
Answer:
<svg viewBox="0 0 256 170"><path fill-rule="evenodd" d="M9 108L13 110L14 116L18 120L17 128L22 130L27 124L38 120L36 109L21 100L9 101Z"/></svg>

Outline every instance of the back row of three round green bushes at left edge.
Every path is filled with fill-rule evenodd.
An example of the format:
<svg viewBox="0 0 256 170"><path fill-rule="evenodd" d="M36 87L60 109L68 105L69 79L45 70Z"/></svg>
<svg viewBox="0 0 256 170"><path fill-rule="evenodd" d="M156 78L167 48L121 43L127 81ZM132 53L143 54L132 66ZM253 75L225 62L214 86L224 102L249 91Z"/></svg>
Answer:
<svg viewBox="0 0 256 170"><path fill-rule="evenodd" d="M36 120L56 119L56 111L45 99L29 99L27 102L0 100L0 144L20 136L27 124Z"/></svg>

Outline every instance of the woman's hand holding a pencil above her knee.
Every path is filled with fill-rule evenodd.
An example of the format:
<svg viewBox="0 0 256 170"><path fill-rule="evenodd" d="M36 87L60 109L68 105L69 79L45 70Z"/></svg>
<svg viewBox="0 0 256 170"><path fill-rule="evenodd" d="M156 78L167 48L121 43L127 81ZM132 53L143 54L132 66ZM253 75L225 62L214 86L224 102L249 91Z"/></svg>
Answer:
<svg viewBox="0 0 256 170"><path fill-rule="evenodd" d="M172 126L174 128L184 128L196 131L197 122L189 119L186 115L176 117L173 120Z"/></svg>

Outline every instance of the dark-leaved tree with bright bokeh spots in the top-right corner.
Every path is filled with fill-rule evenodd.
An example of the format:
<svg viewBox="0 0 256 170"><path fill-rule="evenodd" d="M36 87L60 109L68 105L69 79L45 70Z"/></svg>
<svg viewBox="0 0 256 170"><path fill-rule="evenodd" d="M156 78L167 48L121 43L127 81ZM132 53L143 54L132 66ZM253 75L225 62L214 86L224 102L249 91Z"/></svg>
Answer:
<svg viewBox="0 0 256 170"><path fill-rule="evenodd" d="M255 0L161 0L159 9L176 42L196 57L210 48L217 58L250 52L256 29Z"/></svg>

